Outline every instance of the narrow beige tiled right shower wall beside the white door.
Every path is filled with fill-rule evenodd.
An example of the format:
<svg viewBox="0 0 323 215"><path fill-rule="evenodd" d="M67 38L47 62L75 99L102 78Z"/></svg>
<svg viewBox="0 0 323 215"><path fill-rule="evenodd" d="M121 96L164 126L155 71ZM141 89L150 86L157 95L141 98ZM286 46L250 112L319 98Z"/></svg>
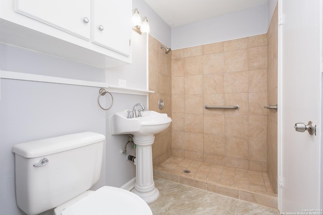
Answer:
<svg viewBox="0 0 323 215"><path fill-rule="evenodd" d="M278 102L278 9L276 6L270 27L267 33L268 45L268 76L267 91L268 104L275 105ZM267 122L267 157L268 177L272 183L273 190L277 193L277 112L268 111Z"/></svg>

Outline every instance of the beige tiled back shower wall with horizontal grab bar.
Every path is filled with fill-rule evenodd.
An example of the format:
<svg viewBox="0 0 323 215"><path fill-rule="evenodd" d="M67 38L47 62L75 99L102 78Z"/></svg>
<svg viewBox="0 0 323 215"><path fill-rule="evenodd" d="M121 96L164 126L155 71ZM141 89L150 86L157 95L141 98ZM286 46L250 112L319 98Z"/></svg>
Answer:
<svg viewBox="0 0 323 215"><path fill-rule="evenodd" d="M172 51L173 155L267 170L267 52L266 34Z"/></svg>

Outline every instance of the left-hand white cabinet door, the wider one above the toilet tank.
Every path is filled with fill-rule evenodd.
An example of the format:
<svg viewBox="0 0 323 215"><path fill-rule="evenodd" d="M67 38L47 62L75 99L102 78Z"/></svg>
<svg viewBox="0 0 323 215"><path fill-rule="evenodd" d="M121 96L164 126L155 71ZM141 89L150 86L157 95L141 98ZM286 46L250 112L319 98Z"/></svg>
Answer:
<svg viewBox="0 0 323 215"><path fill-rule="evenodd" d="M90 40L90 0L16 0L15 11ZM88 23L84 22L84 19L88 20Z"/></svg>

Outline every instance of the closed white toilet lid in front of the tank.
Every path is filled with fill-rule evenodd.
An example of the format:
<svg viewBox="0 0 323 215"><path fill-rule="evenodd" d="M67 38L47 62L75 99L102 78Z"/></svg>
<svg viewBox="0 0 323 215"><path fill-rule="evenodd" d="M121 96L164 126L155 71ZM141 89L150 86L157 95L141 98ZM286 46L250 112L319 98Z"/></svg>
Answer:
<svg viewBox="0 0 323 215"><path fill-rule="evenodd" d="M138 195L121 188L110 186L103 186L94 192L86 193L77 202L66 207L66 209L61 209L63 209L62 215L152 215L148 204ZM56 208L55 212L58 212L58 210Z"/></svg>

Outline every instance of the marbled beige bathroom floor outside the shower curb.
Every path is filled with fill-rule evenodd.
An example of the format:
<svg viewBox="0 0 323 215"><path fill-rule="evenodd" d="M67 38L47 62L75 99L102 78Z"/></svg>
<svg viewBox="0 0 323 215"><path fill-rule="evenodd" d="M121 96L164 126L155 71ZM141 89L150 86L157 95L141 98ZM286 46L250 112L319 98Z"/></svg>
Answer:
<svg viewBox="0 0 323 215"><path fill-rule="evenodd" d="M195 214L280 214L277 209L261 206L217 193L155 178L159 197L149 206L154 215Z"/></svg>

